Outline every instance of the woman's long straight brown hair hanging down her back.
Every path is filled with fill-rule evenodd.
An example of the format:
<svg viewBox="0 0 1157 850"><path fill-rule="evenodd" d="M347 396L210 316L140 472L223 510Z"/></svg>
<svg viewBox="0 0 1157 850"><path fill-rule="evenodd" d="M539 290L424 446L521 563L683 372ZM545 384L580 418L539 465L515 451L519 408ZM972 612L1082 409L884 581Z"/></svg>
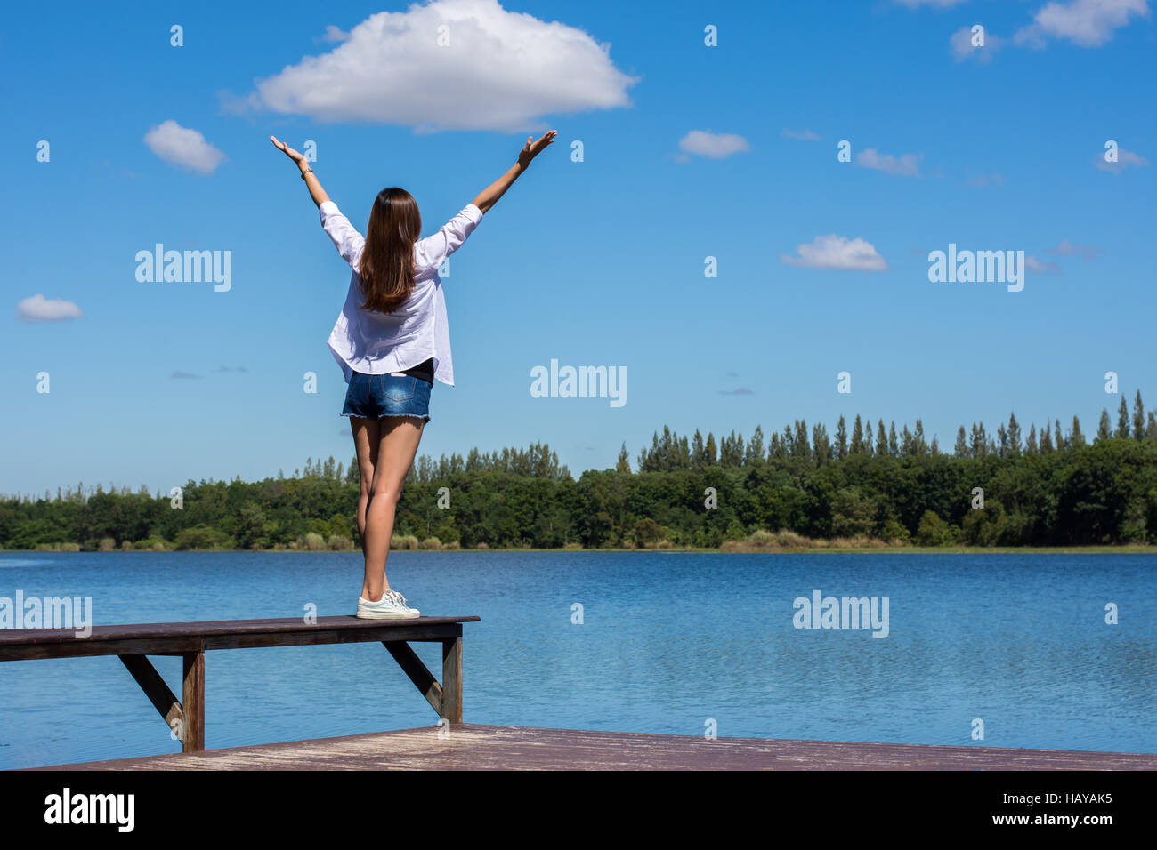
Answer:
<svg viewBox="0 0 1157 850"><path fill-rule="evenodd" d="M359 269L366 296L362 309L390 313L414 288L414 243L422 234L418 201L404 189L383 189L374 200L366 230Z"/></svg>

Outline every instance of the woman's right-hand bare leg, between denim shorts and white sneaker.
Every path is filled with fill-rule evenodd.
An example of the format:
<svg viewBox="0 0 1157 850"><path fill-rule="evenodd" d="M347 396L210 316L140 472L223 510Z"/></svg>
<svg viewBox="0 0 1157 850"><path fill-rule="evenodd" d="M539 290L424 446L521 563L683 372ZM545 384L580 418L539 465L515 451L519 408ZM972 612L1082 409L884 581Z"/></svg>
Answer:
<svg viewBox="0 0 1157 850"><path fill-rule="evenodd" d="M390 554L390 539L393 537L393 518L426 423L412 416L385 416L378 426L379 442L364 509L366 530L362 532L366 579L361 596L371 603L378 601L390 587L385 577L385 561ZM360 464L360 451L358 457ZM363 475L363 494L364 481ZM359 500L359 515L361 513Z"/></svg>

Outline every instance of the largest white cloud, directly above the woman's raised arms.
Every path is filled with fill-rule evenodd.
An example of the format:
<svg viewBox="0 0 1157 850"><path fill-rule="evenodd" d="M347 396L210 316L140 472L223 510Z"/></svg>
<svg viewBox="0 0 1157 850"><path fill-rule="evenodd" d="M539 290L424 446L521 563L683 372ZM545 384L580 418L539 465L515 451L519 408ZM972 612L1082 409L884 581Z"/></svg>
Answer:
<svg viewBox="0 0 1157 850"><path fill-rule="evenodd" d="M550 113L627 106L636 83L610 45L558 21L507 12L498 0L434 0L379 12L331 52L226 98L230 111L270 110L319 121L440 130L528 131ZM440 46L440 38L445 46Z"/></svg>

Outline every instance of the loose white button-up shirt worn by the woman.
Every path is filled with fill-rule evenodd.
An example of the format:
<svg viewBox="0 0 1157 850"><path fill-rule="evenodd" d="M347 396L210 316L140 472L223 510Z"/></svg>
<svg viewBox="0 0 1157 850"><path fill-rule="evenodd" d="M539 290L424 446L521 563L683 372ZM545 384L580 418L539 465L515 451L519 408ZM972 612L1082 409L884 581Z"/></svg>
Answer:
<svg viewBox="0 0 1157 850"><path fill-rule="evenodd" d="M366 297L361 293L358 269L364 237L333 201L322 204L318 213L338 253L353 268L346 304L329 340L330 352L341 367L346 383L355 371L367 375L400 372L433 357L434 377L454 386L450 325L437 269L447 257L462 247L482 220L482 210L467 204L436 234L414 243L414 289L392 313L361 306Z"/></svg>

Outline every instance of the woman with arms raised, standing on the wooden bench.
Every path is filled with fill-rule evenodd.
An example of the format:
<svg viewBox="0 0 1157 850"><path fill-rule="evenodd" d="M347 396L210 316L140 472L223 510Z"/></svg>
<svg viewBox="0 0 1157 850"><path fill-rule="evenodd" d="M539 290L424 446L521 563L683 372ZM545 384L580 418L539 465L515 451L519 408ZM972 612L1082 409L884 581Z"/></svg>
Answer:
<svg viewBox="0 0 1157 850"><path fill-rule="evenodd" d="M434 379L454 385L437 269L555 135L552 130L535 142L528 136L518 161L425 239L420 238L418 204L397 187L378 193L363 238L330 200L305 157L270 136L301 169L322 227L353 268L346 304L329 346L349 384L341 415L349 416L361 473L358 532L366 577L358 597L360 618L397 620L419 613L390 589L385 560L398 497L429 421Z"/></svg>

